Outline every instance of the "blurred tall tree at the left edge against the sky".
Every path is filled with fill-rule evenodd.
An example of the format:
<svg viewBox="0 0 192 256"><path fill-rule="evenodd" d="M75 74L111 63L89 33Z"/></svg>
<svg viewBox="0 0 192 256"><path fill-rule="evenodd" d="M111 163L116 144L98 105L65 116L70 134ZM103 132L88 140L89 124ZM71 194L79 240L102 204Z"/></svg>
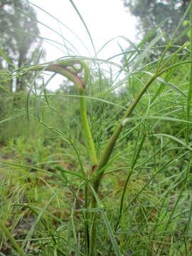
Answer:
<svg viewBox="0 0 192 256"><path fill-rule="evenodd" d="M33 7L30 6L28 0L1 0L0 17L2 49L18 68L26 63L30 64L33 61L32 55L37 43L36 36L39 35L35 21L36 12ZM29 36L27 33L36 36ZM37 51L39 53L39 50ZM0 68L3 68L1 57ZM20 90L24 90L24 84L23 80L18 78L16 91Z"/></svg>

